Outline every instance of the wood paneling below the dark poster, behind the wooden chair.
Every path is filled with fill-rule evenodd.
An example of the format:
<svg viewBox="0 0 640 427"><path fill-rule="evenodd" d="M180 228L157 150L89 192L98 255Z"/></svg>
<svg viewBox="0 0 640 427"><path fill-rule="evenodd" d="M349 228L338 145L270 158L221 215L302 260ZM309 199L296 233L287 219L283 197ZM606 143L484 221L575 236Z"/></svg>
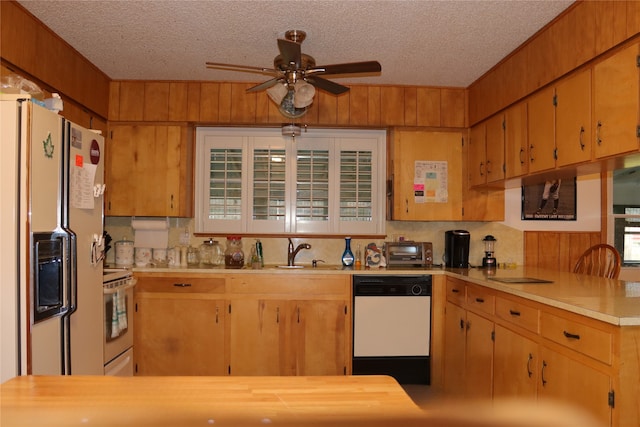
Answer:
<svg viewBox="0 0 640 427"><path fill-rule="evenodd" d="M525 231L524 265L573 271L584 251L604 242L599 231Z"/></svg>

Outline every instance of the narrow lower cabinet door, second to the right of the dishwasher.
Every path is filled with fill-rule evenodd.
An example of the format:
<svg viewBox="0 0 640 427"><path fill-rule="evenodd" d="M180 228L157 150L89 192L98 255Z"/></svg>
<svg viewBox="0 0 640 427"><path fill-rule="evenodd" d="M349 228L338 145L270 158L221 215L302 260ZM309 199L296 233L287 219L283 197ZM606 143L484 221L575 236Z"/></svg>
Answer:
<svg viewBox="0 0 640 427"><path fill-rule="evenodd" d="M491 399L493 389L493 322L467 311L466 396Z"/></svg>

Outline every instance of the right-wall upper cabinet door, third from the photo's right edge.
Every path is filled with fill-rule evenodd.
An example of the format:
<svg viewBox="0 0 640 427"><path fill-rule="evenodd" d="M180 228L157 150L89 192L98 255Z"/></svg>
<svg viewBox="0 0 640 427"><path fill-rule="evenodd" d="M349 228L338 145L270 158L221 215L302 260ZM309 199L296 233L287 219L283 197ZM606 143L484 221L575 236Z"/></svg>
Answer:
<svg viewBox="0 0 640 427"><path fill-rule="evenodd" d="M527 101L529 173L553 169L555 158L554 89L549 87Z"/></svg>

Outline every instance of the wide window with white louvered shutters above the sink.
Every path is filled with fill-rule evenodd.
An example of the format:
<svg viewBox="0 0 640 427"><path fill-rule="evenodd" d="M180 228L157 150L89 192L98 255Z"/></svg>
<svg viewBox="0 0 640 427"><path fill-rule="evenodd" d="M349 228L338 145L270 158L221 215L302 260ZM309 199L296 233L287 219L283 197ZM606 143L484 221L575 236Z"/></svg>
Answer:
<svg viewBox="0 0 640 427"><path fill-rule="evenodd" d="M196 231L384 234L384 131L197 128Z"/></svg>

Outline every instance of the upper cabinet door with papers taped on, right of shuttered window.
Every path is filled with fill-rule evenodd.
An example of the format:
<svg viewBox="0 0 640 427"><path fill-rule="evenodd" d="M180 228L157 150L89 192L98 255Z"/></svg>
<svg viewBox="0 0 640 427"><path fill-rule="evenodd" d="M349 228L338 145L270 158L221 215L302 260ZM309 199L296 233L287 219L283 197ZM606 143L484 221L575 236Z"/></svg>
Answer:
<svg viewBox="0 0 640 427"><path fill-rule="evenodd" d="M394 182L390 203L394 220L462 218L460 132L395 131L392 156ZM436 174L435 164L429 162L444 162L446 182ZM418 171L420 176L416 176ZM420 191L417 186L422 186L422 196L416 193Z"/></svg>

